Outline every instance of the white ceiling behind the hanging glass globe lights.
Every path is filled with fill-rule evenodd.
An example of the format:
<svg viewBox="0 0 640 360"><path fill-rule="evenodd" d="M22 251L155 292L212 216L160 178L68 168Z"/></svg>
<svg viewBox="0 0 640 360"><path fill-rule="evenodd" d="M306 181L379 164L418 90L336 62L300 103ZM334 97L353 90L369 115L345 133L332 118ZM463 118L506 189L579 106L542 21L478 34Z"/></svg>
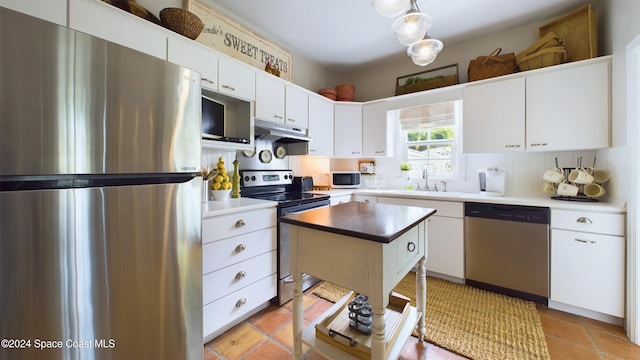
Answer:
<svg viewBox="0 0 640 360"><path fill-rule="evenodd" d="M362 64L406 56L370 0L204 0L265 39L340 75ZM550 19L585 0L417 0L432 16L428 35L452 45Z"/></svg>

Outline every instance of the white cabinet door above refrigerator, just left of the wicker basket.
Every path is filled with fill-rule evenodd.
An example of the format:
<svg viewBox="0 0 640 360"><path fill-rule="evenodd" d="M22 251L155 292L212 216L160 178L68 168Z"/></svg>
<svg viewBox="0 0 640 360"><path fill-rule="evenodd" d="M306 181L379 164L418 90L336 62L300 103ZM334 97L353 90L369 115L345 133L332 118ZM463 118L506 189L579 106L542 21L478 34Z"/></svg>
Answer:
<svg viewBox="0 0 640 360"><path fill-rule="evenodd" d="M167 59L167 31L102 1L69 0L69 27Z"/></svg>

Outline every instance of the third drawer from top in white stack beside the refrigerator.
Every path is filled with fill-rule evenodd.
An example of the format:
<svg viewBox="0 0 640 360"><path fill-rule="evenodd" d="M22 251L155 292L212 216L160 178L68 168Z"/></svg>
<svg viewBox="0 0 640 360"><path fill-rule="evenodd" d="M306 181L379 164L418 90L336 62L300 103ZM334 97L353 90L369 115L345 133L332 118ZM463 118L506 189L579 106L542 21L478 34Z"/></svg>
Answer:
<svg viewBox="0 0 640 360"><path fill-rule="evenodd" d="M205 275L202 280L203 304L275 274L278 271L277 258L274 250Z"/></svg>

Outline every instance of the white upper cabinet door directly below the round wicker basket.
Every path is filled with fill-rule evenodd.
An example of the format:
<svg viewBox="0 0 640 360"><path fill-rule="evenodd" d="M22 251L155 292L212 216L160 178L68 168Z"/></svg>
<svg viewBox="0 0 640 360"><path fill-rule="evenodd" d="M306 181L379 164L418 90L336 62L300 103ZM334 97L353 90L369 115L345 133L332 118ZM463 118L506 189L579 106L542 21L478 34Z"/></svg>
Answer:
<svg viewBox="0 0 640 360"><path fill-rule="evenodd" d="M202 87L218 90L218 59L214 50L184 36L169 36L167 60L195 70L202 77Z"/></svg>

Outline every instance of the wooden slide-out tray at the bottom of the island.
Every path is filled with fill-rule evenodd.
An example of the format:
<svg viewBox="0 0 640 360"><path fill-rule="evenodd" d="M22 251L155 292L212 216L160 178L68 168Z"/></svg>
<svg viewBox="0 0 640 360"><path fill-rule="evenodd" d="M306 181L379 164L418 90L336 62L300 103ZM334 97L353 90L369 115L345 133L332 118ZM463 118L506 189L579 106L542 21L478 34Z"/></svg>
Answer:
<svg viewBox="0 0 640 360"><path fill-rule="evenodd" d="M343 306L338 308L324 320L316 324L316 338L335 346L359 359L371 359L371 339L373 335L364 335L349 326L349 303L356 297L355 292L351 292L348 300ZM387 354L398 338L400 330L405 325L411 299L391 292L389 294L389 306L384 314L386 323L385 345Z"/></svg>

